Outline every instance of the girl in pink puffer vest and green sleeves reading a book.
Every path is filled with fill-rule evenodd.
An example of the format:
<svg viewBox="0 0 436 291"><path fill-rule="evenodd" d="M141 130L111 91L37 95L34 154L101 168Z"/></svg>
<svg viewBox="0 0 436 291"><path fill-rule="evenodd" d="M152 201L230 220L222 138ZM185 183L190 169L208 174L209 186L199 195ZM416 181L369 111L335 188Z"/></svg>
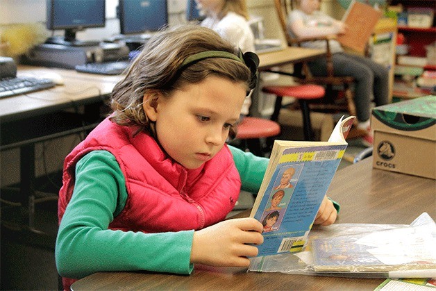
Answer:
<svg viewBox="0 0 436 291"><path fill-rule="evenodd" d="M65 290L94 272L249 265L262 224L223 219L241 183L258 190L268 160L225 142L255 58L199 26L149 40L112 92L112 115L65 158L55 251ZM318 223L335 221L330 200L320 211Z"/></svg>

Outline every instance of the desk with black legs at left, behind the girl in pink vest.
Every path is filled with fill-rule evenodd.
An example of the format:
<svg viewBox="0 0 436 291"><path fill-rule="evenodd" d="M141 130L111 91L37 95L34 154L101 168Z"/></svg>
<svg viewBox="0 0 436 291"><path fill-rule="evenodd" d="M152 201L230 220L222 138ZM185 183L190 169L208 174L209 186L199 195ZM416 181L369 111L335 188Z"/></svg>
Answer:
<svg viewBox="0 0 436 291"><path fill-rule="evenodd" d="M65 79L65 85L0 99L0 150L20 149L19 226L38 234L43 233L33 228L35 143L93 128L99 122L99 107L121 78L29 66L19 66L18 76L43 76L53 71ZM83 112L79 106L84 106ZM67 109L81 112L67 113Z"/></svg>

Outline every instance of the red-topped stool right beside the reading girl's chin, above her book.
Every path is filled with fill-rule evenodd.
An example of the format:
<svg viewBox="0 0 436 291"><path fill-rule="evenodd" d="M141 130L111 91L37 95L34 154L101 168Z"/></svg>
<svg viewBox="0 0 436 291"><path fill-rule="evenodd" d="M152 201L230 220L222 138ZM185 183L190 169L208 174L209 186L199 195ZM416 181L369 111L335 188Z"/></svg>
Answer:
<svg viewBox="0 0 436 291"><path fill-rule="evenodd" d="M258 118L244 117L237 126L236 139L246 142L246 149L256 156L264 156L260 138L271 138L280 133L280 124L275 121Z"/></svg>

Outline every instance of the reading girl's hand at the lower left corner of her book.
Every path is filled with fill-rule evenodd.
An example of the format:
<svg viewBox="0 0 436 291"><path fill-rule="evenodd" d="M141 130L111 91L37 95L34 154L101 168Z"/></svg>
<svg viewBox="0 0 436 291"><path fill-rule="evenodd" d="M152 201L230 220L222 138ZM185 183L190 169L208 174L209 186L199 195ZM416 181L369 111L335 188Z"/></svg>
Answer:
<svg viewBox="0 0 436 291"><path fill-rule="evenodd" d="M217 267L249 267L262 244L263 226L254 218L229 219L194 232L191 263Z"/></svg>

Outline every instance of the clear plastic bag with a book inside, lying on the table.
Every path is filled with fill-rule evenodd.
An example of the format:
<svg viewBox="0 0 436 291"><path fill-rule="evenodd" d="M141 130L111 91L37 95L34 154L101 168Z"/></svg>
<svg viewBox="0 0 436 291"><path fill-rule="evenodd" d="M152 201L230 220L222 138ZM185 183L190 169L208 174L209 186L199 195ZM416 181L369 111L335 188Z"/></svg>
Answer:
<svg viewBox="0 0 436 291"><path fill-rule="evenodd" d="M416 240L419 237L422 239ZM366 244L367 247L332 246L332 251L322 253L332 257L335 263L320 263L325 260L319 258L317 250L312 249L313 242L336 240L354 240L354 243ZM303 251L251 258L249 271L350 278L436 278L435 240L436 224L428 213L422 213L410 225L318 225L310 231L308 244ZM392 247L392 244L396 247ZM414 247L406 247L404 251L400 246L406 245ZM344 251L344 247L355 251ZM325 269L324 265L328 265L328 268Z"/></svg>

